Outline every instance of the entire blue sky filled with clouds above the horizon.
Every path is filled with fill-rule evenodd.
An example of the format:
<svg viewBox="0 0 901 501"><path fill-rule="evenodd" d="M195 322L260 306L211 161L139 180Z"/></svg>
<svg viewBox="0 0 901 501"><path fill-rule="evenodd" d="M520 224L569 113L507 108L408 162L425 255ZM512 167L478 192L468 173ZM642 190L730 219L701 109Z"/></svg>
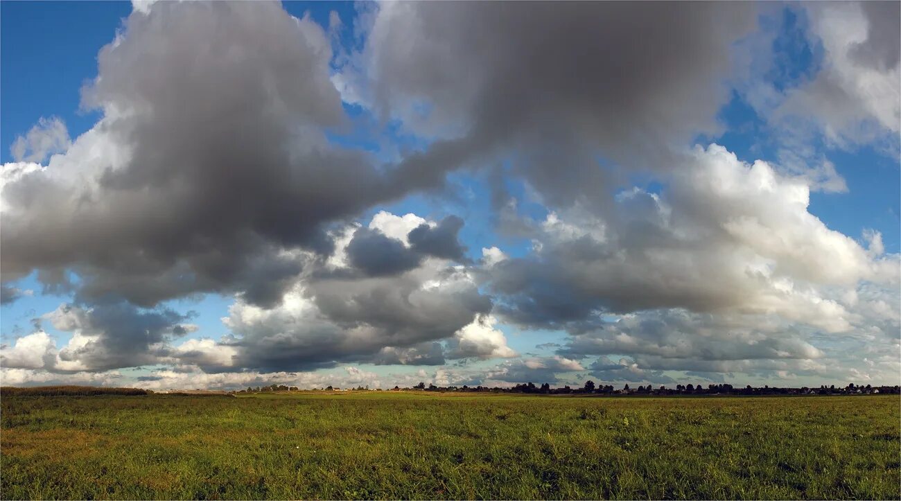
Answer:
<svg viewBox="0 0 901 501"><path fill-rule="evenodd" d="M899 5L5 2L0 383L897 385Z"/></svg>

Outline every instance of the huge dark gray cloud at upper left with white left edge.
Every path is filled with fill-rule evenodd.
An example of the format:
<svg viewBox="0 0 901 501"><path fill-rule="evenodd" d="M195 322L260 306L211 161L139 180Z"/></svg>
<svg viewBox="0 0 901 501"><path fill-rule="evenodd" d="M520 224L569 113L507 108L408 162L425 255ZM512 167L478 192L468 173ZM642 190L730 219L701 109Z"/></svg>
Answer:
<svg viewBox="0 0 901 501"><path fill-rule="evenodd" d="M331 59L323 29L278 3L142 5L83 91L102 119L46 167L4 166L4 280L70 270L88 302L277 303L299 250L331 253L330 223L407 190L327 139L348 123ZM39 123L22 158L59 127Z"/></svg>

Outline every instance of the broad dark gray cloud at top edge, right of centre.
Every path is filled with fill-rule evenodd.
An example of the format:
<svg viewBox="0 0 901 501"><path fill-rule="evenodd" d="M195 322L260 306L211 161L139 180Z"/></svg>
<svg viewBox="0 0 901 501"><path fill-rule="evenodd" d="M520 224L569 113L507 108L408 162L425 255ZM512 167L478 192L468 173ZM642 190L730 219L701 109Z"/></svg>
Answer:
<svg viewBox="0 0 901 501"><path fill-rule="evenodd" d="M599 158L663 167L674 146L714 131L731 42L754 25L749 4L387 4L362 75L345 77L439 139L399 164L411 183L503 153L549 203L569 205L597 198L610 176Z"/></svg>

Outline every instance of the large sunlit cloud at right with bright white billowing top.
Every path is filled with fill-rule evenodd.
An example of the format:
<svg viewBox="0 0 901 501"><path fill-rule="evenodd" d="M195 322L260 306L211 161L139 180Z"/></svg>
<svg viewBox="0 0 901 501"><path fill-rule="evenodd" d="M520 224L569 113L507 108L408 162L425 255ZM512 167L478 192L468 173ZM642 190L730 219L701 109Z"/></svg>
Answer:
<svg viewBox="0 0 901 501"><path fill-rule="evenodd" d="M575 207L532 224L532 255L487 272L506 319L578 331L602 312L654 308L777 314L851 328L823 287L897 283L874 256L807 212L809 188L765 162L697 148L660 194L634 188L606 216Z"/></svg>

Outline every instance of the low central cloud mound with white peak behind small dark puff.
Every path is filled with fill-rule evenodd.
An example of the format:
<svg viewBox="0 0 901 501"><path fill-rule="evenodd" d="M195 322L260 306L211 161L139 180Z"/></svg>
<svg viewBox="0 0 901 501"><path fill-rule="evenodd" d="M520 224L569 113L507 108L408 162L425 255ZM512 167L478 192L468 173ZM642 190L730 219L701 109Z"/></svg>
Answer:
<svg viewBox="0 0 901 501"><path fill-rule="evenodd" d="M343 265L307 262L278 305L265 308L239 298L223 319L235 335L228 342L237 350L234 367L306 370L347 362L439 364L446 358L511 356L503 333L486 316L491 299L478 291L468 267L429 253L450 255L439 252L448 242L441 234L455 237L455 224L448 230L447 223L413 214L379 213L369 228L342 233L345 248L336 251L346 254ZM423 248L417 240L422 235L408 238L420 228L440 235L441 245Z"/></svg>

